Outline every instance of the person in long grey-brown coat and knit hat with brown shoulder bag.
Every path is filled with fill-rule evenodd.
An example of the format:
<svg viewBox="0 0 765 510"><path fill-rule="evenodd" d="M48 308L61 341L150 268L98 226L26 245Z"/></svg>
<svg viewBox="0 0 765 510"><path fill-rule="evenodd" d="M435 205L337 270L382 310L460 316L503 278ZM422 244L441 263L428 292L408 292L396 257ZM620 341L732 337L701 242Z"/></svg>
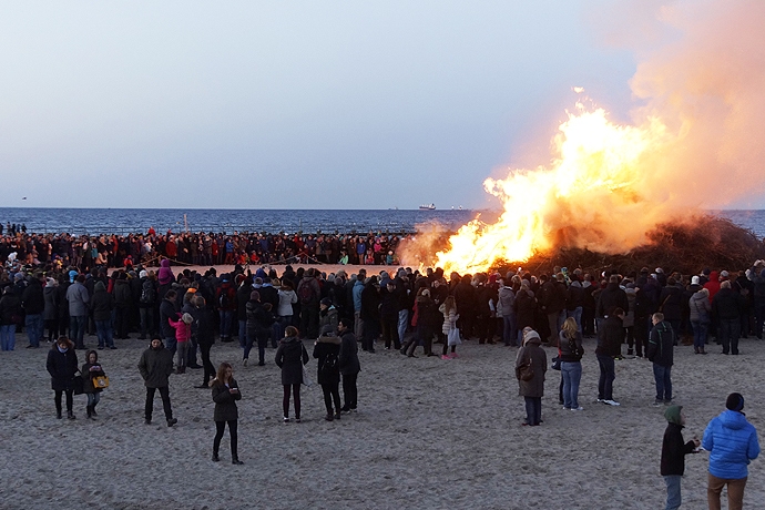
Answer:
<svg viewBox="0 0 765 510"><path fill-rule="evenodd" d="M548 369L548 356L540 347L542 340L533 329L524 336L526 343L516 357L516 378L519 395L526 400L526 421L523 425L538 426L542 420L542 397L544 396L544 373ZM521 369L531 367L533 376L523 380Z"/></svg>

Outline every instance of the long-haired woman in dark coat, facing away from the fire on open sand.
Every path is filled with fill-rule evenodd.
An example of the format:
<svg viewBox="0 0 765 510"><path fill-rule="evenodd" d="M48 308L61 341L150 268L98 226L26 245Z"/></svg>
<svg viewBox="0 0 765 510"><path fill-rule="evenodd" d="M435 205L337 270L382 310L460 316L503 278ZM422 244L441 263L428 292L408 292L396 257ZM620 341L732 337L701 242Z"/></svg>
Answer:
<svg viewBox="0 0 765 510"><path fill-rule="evenodd" d="M221 439L223 432L228 424L228 436L231 436L231 462L233 465L243 465L239 460L237 451L236 426L239 419L238 409L236 408L236 400L242 399L239 385L234 379L234 368L227 364L222 363L217 368L217 375L211 385L213 387L213 401L215 402L215 411L213 419L215 420L215 439L213 439L213 462L221 460L217 452L221 448Z"/></svg>

